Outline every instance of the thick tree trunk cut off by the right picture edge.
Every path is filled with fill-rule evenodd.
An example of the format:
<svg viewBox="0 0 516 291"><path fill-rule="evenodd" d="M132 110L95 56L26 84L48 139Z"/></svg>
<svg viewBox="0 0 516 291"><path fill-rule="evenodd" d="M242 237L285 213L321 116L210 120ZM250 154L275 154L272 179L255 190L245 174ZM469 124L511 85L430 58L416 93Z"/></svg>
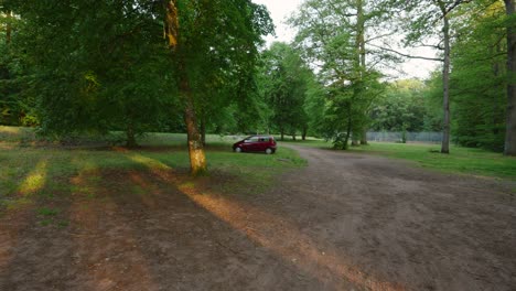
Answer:
<svg viewBox="0 0 516 291"><path fill-rule="evenodd" d="M504 0L507 17L514 15L515 0ZM507 128L505 155L516 155L516 28L507 24Z"/></svg>

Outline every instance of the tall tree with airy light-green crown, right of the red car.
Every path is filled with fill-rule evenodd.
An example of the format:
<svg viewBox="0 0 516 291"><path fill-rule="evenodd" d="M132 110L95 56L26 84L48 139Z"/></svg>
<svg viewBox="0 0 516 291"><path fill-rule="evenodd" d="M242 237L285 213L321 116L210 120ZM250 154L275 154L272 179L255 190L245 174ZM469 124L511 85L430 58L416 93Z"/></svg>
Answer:
<svg viewBox="0 0 516 291"><path fill-rule="evenodd" d="M290 23L298 29L297 45L302 48L309 63L318 66L321 82L330 85L331 94L326 97L331 99L329 108L333 109L327 111L331 118L326 120L333 120L335 130L330 130L327 122L325 128L330 130L327 132L333 132L336 143L342 143L337 141L341 137L337 129L346 129L347 132L348 128L353 131L354 143L358 140L366 143L367 112L372 98L377 96L375 90L369 89L379 84L375 65L388 58L369 48L374 39L384 35L378 33L377 37L369 39L367 35L376 33L386 11L381 1L309 0L290 19ZM350 97L350 93L353 97ZM342 114L341 118L336 117L337 114ZM348 114L357 116L347 117ZM345 136L350 137L350 133Z"/></svg>

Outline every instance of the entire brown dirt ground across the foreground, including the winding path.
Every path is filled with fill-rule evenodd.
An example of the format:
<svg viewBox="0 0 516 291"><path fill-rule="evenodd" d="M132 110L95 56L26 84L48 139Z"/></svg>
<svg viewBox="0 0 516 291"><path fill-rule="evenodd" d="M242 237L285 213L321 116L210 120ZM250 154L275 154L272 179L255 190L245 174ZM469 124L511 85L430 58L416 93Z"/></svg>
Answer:
<svg viewBox="0 0 516 291"><path fill-rule="evenodd" d="M297 149L309 166L267 193L112 172L117 195L56 202L62 227L7 215L0 290L516 289L512 185Z"/></svg>

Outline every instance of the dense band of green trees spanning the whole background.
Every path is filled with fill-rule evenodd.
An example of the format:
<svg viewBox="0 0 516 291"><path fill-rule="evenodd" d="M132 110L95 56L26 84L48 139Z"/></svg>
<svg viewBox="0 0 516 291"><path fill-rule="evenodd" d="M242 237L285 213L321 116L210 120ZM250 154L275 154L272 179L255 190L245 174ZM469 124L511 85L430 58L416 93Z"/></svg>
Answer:
<svg viewBox="0 0 516 291"><path fill-rule="evenodd" d="M266 50L272 24L249 0L0 3L2 125L119 130L128 146L187 131L198 151L206 132L312 134L346 149L367 130L450 129L459 144L506 152L515 134L513 0L307 0L289 20L294 42ZM404 45L436 48L442 67L393 80L385 68Z"/></svg>

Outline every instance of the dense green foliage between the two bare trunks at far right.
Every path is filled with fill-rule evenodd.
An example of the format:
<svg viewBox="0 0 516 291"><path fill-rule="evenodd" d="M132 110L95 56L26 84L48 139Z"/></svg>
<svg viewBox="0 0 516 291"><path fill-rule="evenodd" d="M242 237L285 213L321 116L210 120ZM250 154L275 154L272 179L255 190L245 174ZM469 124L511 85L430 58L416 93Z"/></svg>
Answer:
<svg viewBox="0 0 516 291"><path fill-rule="evenodd" d="M467 147L502 151L505 119L505 29L499 1L477 1L460 10L454 31L450 94L454 140Z"/></svg>

